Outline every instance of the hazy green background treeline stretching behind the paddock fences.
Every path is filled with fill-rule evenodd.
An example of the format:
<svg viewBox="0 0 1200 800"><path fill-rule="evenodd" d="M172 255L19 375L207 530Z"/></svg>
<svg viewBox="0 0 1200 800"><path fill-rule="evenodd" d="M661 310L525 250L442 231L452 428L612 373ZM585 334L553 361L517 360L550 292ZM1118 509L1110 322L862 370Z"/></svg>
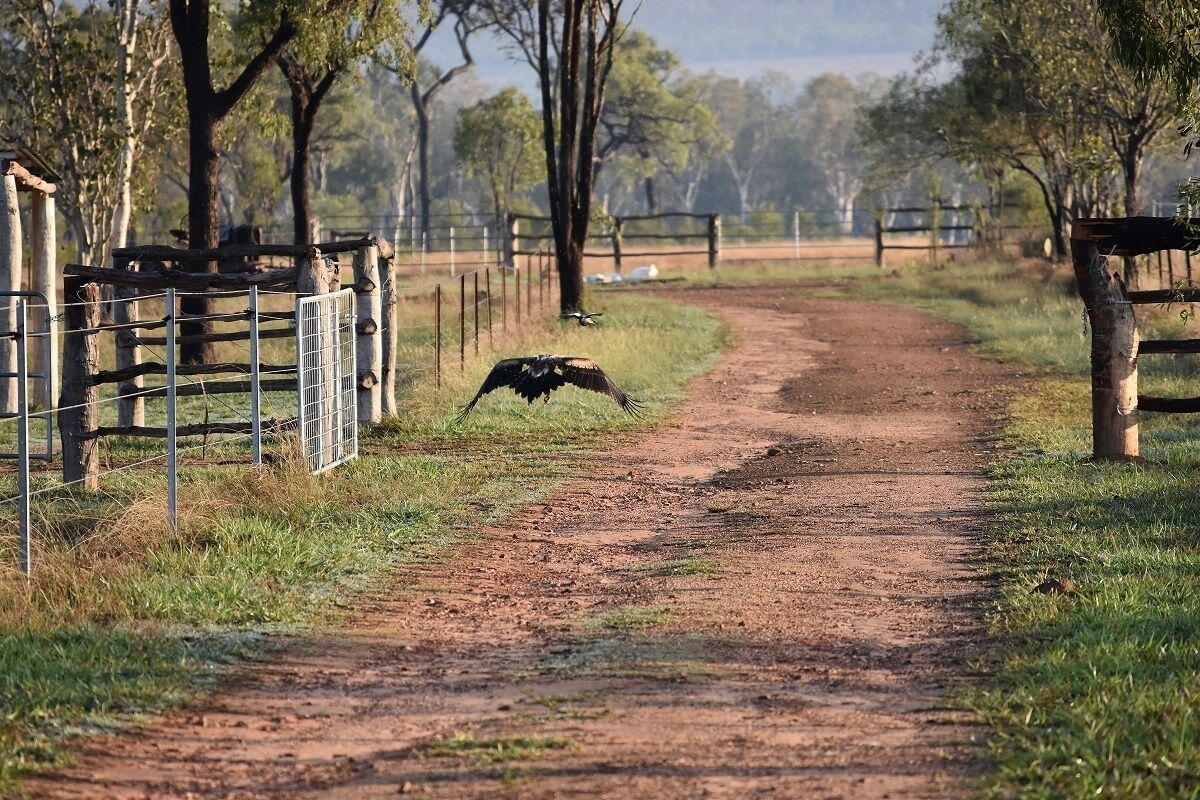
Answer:
<svg viewBox="0 0 1200 800"><path fill-rule="evenodd" d="M209 6L208 52L190 55L200 20L181 10ZM470 68L500 47L536 70L535 0L246 8L0 1L0 138L64 173L82 258L128 235L169 241L214 213L296 240L310 217L402 221L419 241L438 236L438 215L546 210L542 98ZM452 36L457 56L430 61L432 36ZM697 74L634 28L607 76L595 205L802 211L848 233L877 207L938 196L1024 210L1061 251L1072 218L1171 196L1176 108L1109 56L1092 0L952 0L932 53L894 80ZM210 173L211 207L188 191Z"/></svg>

